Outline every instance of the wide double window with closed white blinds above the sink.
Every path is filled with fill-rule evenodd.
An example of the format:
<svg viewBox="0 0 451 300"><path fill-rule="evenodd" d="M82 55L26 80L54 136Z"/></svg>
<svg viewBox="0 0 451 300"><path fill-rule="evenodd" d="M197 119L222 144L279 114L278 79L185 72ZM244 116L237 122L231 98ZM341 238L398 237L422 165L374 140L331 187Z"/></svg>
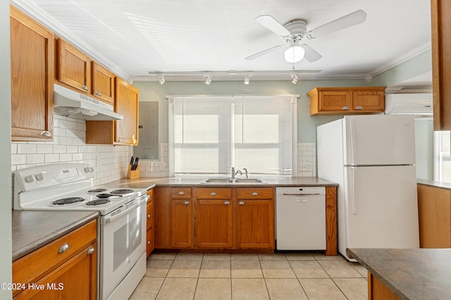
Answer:
<svg viewBox="0 0 451 300"><path fill-rule="evenodd" d="M171 174L230 174L231 167L252 174L292 174L296 99L170 98Z"/></svg>

